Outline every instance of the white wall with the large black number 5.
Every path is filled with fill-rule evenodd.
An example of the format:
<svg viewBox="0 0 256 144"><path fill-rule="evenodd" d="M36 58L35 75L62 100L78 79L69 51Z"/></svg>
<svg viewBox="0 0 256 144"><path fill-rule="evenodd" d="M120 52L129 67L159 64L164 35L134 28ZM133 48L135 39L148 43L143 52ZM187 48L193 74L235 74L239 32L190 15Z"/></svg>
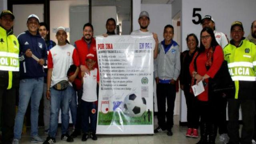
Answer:
<svg viewBox="0 0 256 144"><path fill-rule="evenodd" d="M245 35L250 33L250 25L255 17L256 0L182 0L182 50L186 50L185 38L187 34L195 33L198 38L202 26L194 24L193 8L201 8L199 13L202 18L209 14L215 20L216 30L223 32L230 38L230 26L232 22L239 20L244 25ZM186 104L184 95L182 96L181 122L186 122Z"/></svg>

